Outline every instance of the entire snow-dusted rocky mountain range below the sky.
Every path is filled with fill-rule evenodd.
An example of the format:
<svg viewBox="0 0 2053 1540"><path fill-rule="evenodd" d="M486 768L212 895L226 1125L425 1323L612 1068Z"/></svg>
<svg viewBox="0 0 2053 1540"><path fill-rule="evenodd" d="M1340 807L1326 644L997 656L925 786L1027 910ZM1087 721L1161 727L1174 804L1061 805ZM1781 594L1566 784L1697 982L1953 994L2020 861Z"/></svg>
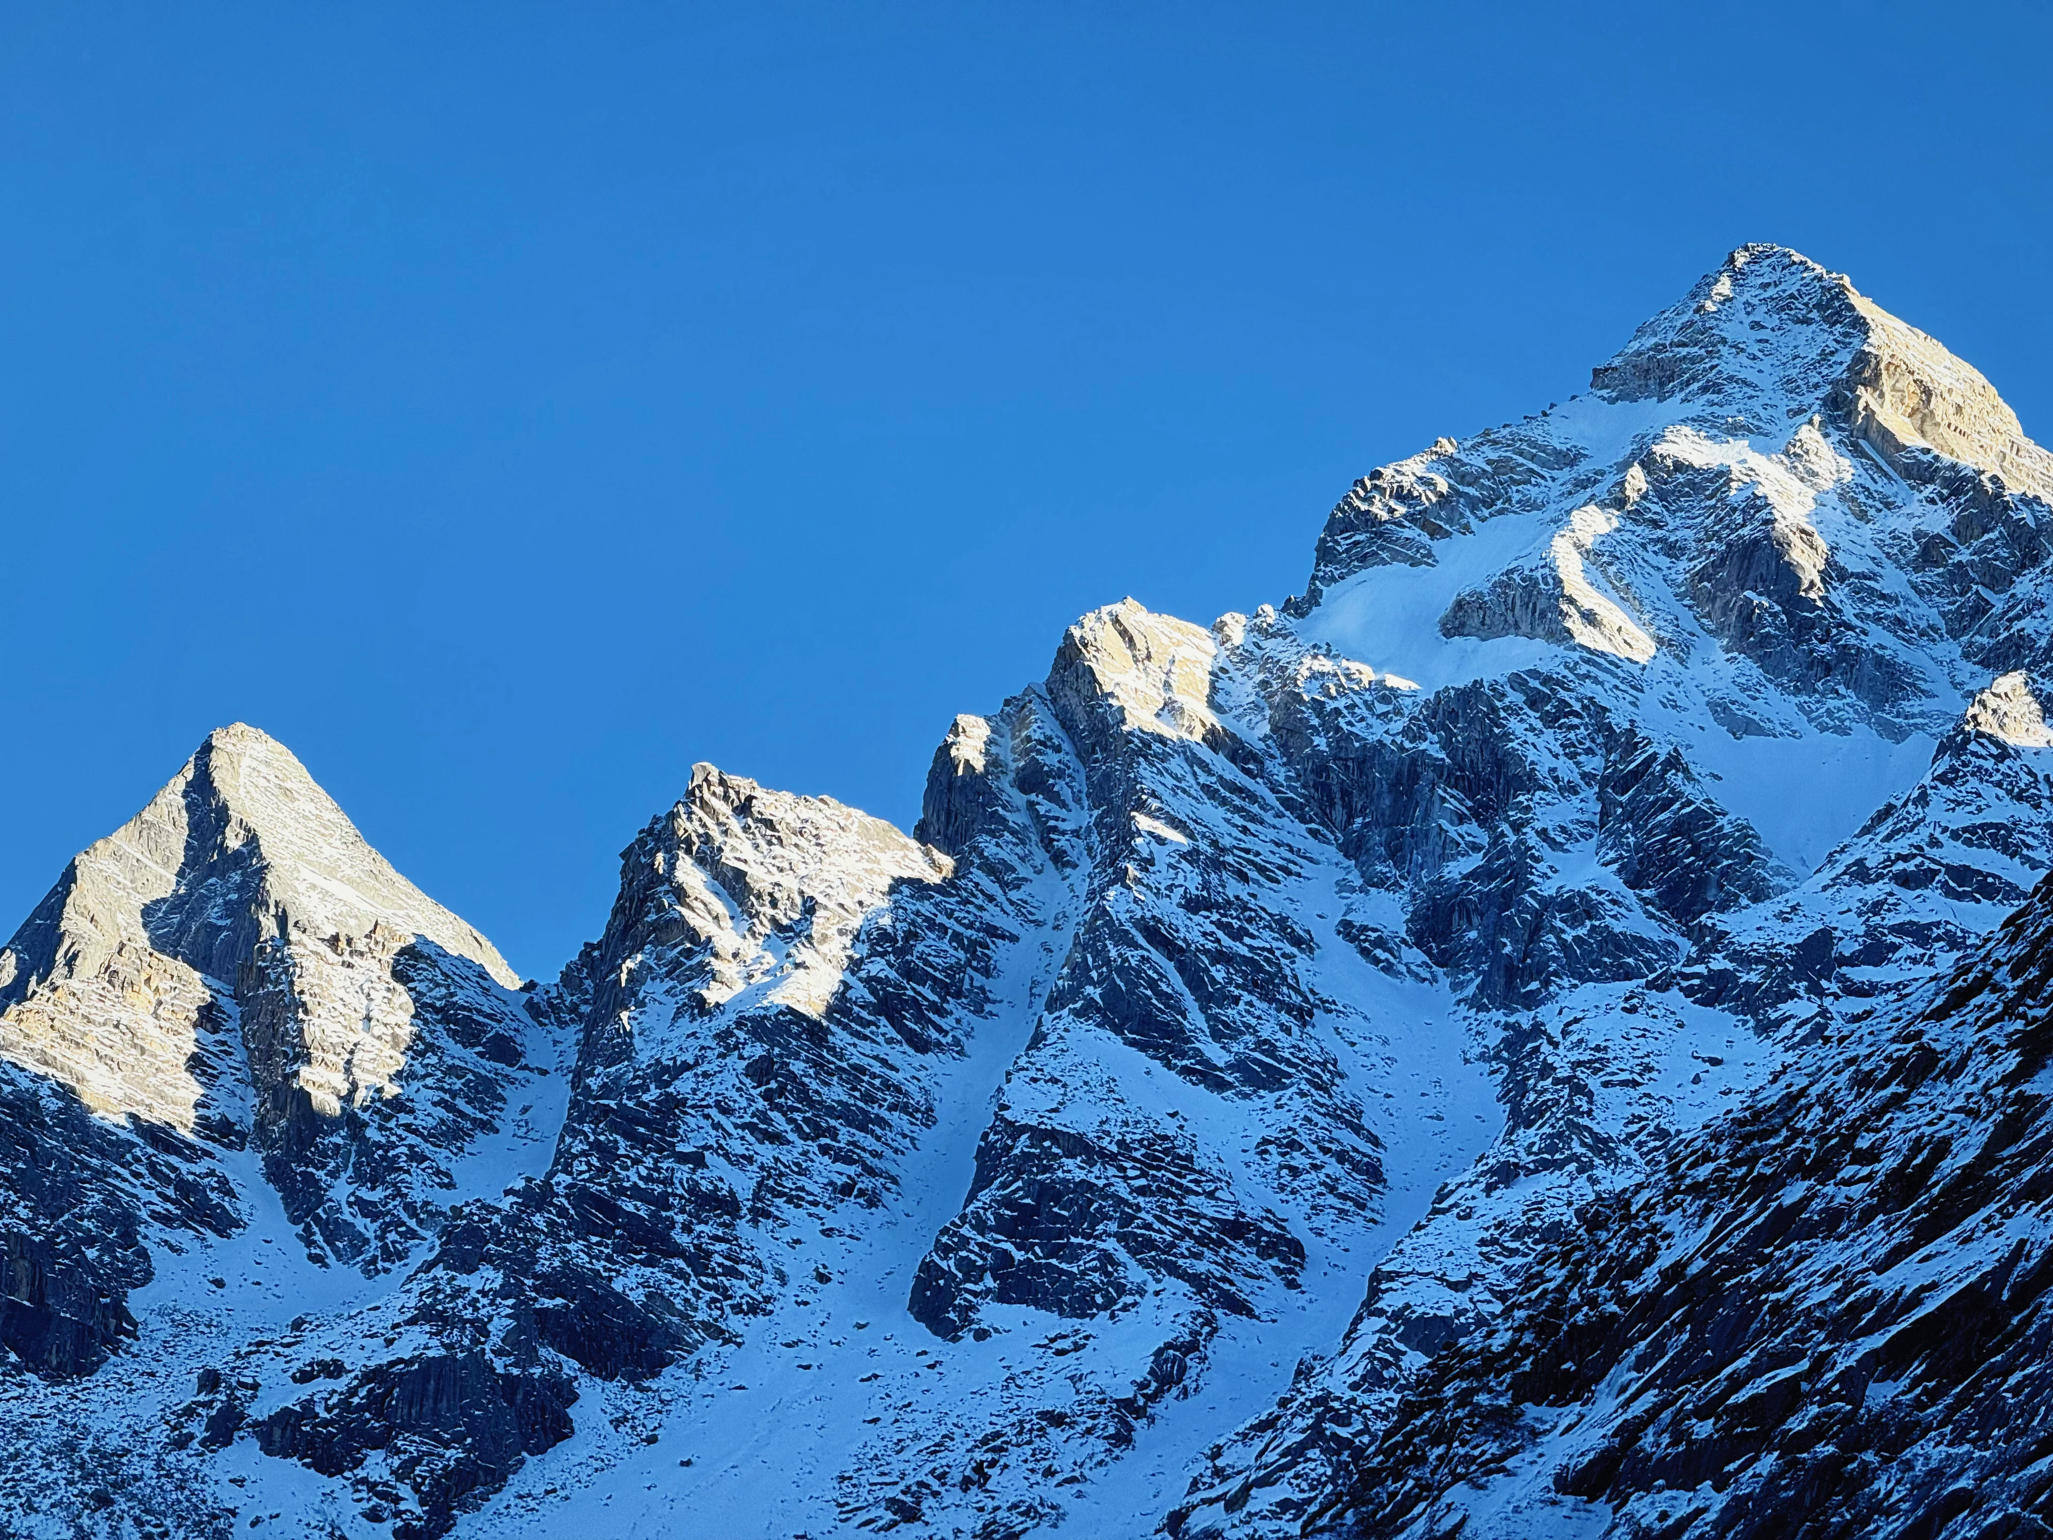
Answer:
<svg viewBox="0 0 2053 1540"><path fill-rule="evenodd" d="M2049 497L1749 246L526 992L222 729L0 953L0 1513L2024 1534Z"/></svg>

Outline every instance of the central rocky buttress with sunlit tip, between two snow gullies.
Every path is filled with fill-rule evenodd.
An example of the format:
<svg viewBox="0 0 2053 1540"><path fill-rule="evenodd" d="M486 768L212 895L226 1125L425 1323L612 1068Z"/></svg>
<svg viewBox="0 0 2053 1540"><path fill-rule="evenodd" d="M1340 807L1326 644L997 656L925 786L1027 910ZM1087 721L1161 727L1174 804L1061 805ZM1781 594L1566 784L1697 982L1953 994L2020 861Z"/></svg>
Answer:
<svg viewBox="0 0 2053 1540"><path fill-rule="evenodd" d="M1006 713L1047 713L1061 774L940 780L977 805L1004 805L994 776L1057 784L1074 809L1049 821L1061 951L909 1287L983 1384L852 1483L895 1480L944 1530L1152 1526L1164 1429L1275 1394L1378 1236L1482 1140L1451 1012L1345 940L1357 879L1226 632L1133 602L1086 616Z"/></svg>

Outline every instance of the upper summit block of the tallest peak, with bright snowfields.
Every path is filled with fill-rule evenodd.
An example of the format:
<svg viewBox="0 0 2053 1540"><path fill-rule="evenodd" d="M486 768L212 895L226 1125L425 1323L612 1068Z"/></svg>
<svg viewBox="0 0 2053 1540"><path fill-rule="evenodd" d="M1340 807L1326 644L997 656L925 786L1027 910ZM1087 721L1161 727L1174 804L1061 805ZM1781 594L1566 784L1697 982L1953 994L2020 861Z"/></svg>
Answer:
<svg viewBox="0 0 2053 1540"><path fill-rule="evenodd" d="M1971 365L1745 246L1589 394L1363 476L1285 608L1427 686L1566 653L1737 737L1903 741L2049 661L2049 495Z"/></svg>

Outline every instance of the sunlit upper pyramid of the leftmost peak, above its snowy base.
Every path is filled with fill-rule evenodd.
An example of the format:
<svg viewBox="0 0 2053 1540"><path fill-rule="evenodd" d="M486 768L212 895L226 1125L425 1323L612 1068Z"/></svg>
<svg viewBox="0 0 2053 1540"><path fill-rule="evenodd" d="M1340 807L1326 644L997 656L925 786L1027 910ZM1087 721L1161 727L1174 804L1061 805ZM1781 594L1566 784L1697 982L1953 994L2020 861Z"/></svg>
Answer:
<svg viewBox="0 0 2053 1540"><path fill-rule="evenodd" d="M367 1267L501 1127L519 975L283 743L216 729L0 951L0 1060L199 1150L255 1142L310 1250Z"/></svg>

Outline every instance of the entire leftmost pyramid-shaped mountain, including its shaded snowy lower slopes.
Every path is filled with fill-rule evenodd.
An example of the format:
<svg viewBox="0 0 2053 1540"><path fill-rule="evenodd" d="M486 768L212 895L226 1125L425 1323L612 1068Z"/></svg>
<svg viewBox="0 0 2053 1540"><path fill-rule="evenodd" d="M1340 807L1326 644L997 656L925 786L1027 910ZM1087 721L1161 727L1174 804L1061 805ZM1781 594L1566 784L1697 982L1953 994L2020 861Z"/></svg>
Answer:
<svg viewBox="0 0 2053 1540"><path fill-rule="evenodd" d="M195 1534L224 1509L177 1460L240 1427L232 1378L187 1404L195 1359L423 1257L454 1203L546 1162L563 1105L550 1031L491 942L240 725L0 951L0 1341L33 1376L6 1382L8 1491L105 1511L125 1468L156 1483L140 1515ZM94 1390L148 1439L88 1415Z"/></svg>

